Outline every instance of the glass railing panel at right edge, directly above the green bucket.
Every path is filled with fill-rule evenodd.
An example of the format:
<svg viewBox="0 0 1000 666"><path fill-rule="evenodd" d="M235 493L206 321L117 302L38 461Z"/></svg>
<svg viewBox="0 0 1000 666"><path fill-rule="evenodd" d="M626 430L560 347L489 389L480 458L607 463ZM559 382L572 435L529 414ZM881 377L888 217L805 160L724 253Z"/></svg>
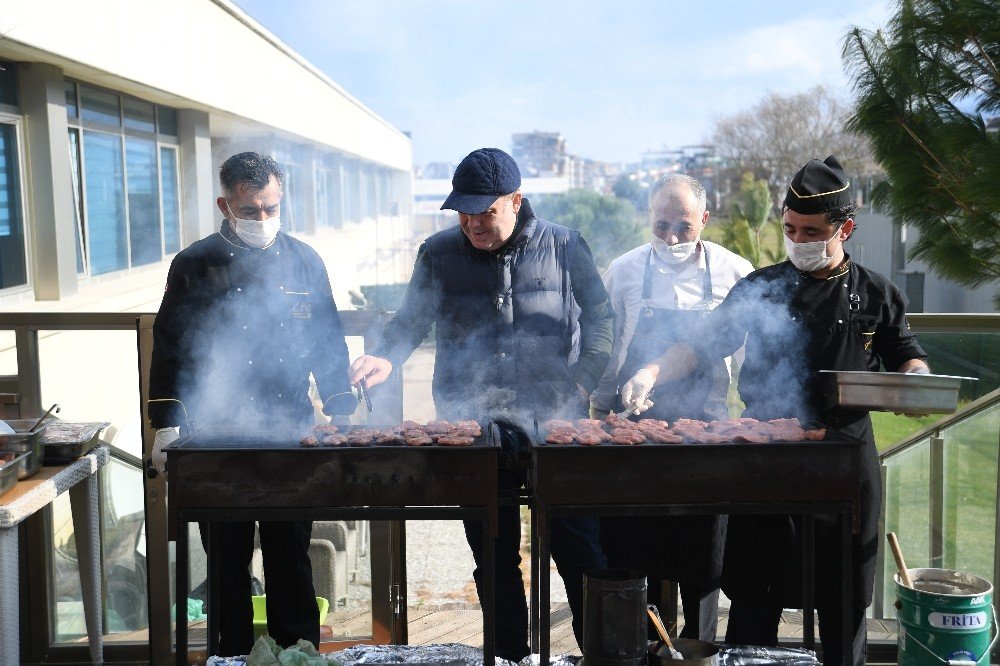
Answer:
<svg viewBox="0 0 1000 666"><path fill-rule="evenodd" d="M943 566L993 578L1000 404L941 431Z"/></svg>

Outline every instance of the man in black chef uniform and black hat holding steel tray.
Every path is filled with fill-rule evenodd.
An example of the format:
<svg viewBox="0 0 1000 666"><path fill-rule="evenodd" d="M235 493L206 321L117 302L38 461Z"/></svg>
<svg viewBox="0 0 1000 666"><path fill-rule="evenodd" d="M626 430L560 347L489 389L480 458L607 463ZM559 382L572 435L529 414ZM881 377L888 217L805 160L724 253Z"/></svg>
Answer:
<svg viewBox="0 0 1000 666"><path fill-rule="evenodd" d="M868 412L837 407L817 371L877 371L880 365L895 372L929 369L906 322L902 293L844 252L857 210L849 188L833 156L803 166L782 207L789 260L738 282L706 317L698 342L675 345L647 369L657 383L676 380L697 367L695 351L727 356L745 339L739 378L744 416L814 419L867 442L861 530L852 537L852 655L842 649L840 533L832 516L819 516L815 526L823 661L860 666L867 653L865 609L872 598L879 538L878 455ZM732 600L727 643L777 645L781 609L801 605L800 535L797 516L730 516L722 573L722 589Z"/></svg>

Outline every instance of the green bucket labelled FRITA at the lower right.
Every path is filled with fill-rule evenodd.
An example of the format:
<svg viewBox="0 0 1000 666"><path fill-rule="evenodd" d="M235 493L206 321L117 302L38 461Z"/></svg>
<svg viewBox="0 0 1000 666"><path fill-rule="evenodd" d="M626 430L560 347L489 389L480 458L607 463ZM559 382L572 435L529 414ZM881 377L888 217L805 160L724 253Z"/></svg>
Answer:
<svg viewBox="0 0 1000 666"><path fill-rule="evenodd" d="M915 589L895 576L900 666L988 664L996 624L990 582L951 569L907 571Z"/></svg>

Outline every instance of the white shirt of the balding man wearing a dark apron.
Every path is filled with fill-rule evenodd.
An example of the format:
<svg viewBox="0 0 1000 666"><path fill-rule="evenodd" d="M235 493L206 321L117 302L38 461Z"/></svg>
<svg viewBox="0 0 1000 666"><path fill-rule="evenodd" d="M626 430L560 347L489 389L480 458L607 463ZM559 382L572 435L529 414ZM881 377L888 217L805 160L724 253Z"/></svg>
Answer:
<svg viewBox="0 0 1000 666"><path fill-rule="evenodd" d="M618 372L625 362L629 343L635 333L642 308L642 280L646 271L646 257L649 256L651 244L640 245L629 250L611 262L604 272L604 287L611 295L611 306L615 311L614 344L611 348L611 360L604 370L597 389L591 395L591 405L596 409L615 409L615 397L618 394ZM704 276L705 252L708 248L708 260L712 268L712 294L709 308L714 308L726 298L726 294L741 278L754 270L753 264L743 257L730 252L721 245L711 241L701 241L698 248L698 259L677 273L674 268L662 261L653 252L650 263L652 268L652 302L654 308L664 310L690 310L695 307L705 309ZM728 360L727 360L728 363ZM726 387L728 390L728 387ZM725 396L722 396L725 401Z"/></svg>

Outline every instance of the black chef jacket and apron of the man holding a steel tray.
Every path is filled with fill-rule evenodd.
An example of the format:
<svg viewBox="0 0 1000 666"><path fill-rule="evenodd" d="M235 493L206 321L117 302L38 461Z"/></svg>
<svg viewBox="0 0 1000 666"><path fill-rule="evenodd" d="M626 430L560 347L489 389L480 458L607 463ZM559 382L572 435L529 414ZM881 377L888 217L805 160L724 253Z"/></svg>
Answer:
<svg viewBox="0 0 1000 666"><path fill-rule="evenodd" d="M759 420L815 419L865 440L862 455L861 533L853 538L856 604L871 603L881 481L871 419L863 410L833 404L818 370L895 371L926 354L905 316L906 300L889 280L845 259L826 279L790 262L757 270L738 282L707 318L704 348L718 356L746 339L740 371L745 416ZM726 542L723 589L801 605L797 520L787 516L733 516ZM817 601L839 594L839 536L832 522L816 525Z"/></svg>

